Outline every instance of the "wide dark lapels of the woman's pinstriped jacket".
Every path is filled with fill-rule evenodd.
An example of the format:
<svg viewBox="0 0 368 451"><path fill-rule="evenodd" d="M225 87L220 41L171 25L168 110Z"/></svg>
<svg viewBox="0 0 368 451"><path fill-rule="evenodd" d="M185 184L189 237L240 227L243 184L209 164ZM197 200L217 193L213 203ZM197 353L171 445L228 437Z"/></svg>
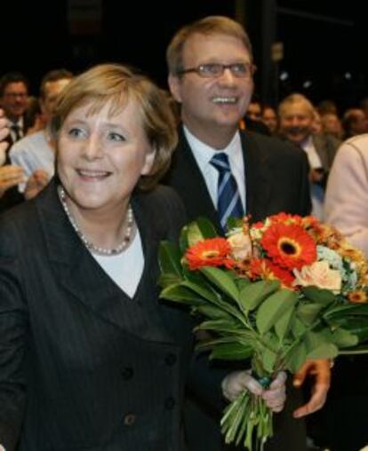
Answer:
<svg viewBox="0 0 368 451"><path fill-rule="evenodd" d="M130 299L84 247L62 210L54 183L44 190L37 202L48 257L63 289L101 319L132 334L139 334L141 338L162 341L165 333L160 328L161 324L155 315L149 313L155 308L156 296L148 296L148 289L152 289L152 268L149 265L152 265L156 252L157 237L154 230L149 230L154 229L154 225L144 224L140 203L133 201L132 204L141 233L145 267L140 281L143 287L139 286L137 296ZM145 304L147 298L152 299L150 305Z"/></svg>

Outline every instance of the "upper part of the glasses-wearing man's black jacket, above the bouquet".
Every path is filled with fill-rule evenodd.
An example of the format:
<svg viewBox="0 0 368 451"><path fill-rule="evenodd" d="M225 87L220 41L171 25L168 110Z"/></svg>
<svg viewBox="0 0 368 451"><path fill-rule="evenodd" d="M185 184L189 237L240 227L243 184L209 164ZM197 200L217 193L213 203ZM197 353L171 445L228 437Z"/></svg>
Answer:
<svg viewBox="0 0 368 451"><path fill-rule="evenodd" d="M180 194L188 218L210 218L220 227L204 177L196 164L184 132L164 183ZM240 131L244 153L247 214L253 221L285 211L307 215L310 212L308 160L298 148L278 139L251 131Z"/></svg>

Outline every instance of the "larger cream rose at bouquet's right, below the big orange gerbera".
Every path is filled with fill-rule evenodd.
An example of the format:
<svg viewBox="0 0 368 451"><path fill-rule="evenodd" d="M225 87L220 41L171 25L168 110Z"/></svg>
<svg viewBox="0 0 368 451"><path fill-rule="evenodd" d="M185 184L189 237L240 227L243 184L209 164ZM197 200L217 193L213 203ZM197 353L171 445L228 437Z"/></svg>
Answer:
<svg viewBox="0 0 368 451"><path fill-rule="evenodd" d="M328 262L315 262L312 265L303 266L301 271L293 270L295 281L292 285L308 287L316 285L319 289L331 289L334 293L340 293L341 275L340 272L331 269Z"/></svg>

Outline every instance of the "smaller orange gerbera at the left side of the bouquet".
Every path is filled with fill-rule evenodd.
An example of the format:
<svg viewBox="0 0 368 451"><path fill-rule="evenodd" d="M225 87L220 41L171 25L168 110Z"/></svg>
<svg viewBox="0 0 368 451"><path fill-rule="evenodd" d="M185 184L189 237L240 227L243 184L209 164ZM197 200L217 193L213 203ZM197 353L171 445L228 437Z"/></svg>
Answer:
<svg viewBox="0 0 368 451"><path fill-rule="evenodd" d="M226 266L229 268L234 265L233 260L228 257L230 252L230 245L225 238L211 238L198 241L191 246L185 257L191 271L202 266Z"/></svg>

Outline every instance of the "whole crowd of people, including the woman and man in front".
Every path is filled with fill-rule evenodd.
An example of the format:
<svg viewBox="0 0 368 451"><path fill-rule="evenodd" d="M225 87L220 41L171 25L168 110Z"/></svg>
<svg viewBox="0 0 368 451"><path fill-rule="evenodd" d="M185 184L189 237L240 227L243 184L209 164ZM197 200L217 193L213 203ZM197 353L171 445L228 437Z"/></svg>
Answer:
<svg viewBox="0 0 368 451"><path fill-rule="evenodd" d="M241 449L219 421L249 390L276 413L265 450L358 451L364 356L336 363L331 400L329 360L265 390L194 352L190 316L156 281L159 242L199 216L223 233L231 216L312 212L368 257L364 104L341 119L300 93L262 105L252 44L226 17L180 28L166 59L170 94L119 64L54 69L32 101L24 75L0 80L0 449Z"/></svg>

